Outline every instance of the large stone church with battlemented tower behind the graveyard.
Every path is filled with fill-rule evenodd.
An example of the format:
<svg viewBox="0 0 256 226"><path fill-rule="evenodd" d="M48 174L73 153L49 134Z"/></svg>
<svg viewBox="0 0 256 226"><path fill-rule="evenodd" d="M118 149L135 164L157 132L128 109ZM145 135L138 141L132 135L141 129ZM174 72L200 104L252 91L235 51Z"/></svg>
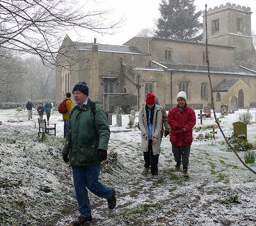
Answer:
<svg viewBox="0 0 256 226"><path fill-rule="evenodd" d="M256 54L249 7L227 3L207 11L208 52L214 102L235 109L256 106ZM205 13L202 42L134 37L124 45L63 40L56 60L56 102L79 81L108 112L138 110L155 93L166 110L185 91L188 104L211 104L207 76Z"/></svg>

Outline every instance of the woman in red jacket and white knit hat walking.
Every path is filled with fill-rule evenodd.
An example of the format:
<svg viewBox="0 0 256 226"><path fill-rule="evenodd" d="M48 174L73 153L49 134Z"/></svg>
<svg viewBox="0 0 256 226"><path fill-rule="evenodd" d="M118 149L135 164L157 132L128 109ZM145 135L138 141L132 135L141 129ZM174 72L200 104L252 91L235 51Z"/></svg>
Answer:
<svg viewBox="0 0 256 226"><path fill-rule="evenodd" d="M177 94L177 106L168 112L168 123L171 127L170 142L175 158L175 171L180 170L182 162L184 177L188 175L190 147L193 141L193 127L196 124L195 111L188 107L187 95L184 91Z"/></svg>

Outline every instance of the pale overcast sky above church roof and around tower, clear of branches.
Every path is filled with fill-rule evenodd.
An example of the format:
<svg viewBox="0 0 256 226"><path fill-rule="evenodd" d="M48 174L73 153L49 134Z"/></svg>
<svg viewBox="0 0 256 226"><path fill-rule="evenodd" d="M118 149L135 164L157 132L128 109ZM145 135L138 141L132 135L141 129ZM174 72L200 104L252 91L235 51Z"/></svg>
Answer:
<svg viewBox="0 0 256 226"><path fill-rule="evenodd" d="M86 1L83 1L83 4ZM205 4L207 8L220 6L227 2L241 4L241 6L250 7L252 13L252 31L256 32L256 0L195 0L196 10L204 10ZM122 27L116 29L115 34L97 34L97 33L83 33L83 40L75 33L67 33L73 41L81 40L92 42L93 38L97 38L97 43L122 45L125 41L130 40L136 36L141 29L152 29L156 25L156 20L160 17L159 3L161 0L96 0L93 3L93 8L100 10L111 10L109 19L119 20L123 19ZM201 18L202 19L202 18Z"/></svg>

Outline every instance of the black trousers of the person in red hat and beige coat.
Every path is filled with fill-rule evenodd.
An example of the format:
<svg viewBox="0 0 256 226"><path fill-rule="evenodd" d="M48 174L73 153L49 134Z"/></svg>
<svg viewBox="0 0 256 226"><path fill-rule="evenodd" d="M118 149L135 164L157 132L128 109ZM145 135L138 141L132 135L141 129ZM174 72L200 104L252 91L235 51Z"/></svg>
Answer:
<svg viewBox="0 0 256 226"><path fill-rule="evenodd" d="M148 140L148 151L143 152L143 156L145 161L144 167L149 168L151 165L151 174L157 175L159 154L156 154L156 155L153 154L152 140Z"/></svg>

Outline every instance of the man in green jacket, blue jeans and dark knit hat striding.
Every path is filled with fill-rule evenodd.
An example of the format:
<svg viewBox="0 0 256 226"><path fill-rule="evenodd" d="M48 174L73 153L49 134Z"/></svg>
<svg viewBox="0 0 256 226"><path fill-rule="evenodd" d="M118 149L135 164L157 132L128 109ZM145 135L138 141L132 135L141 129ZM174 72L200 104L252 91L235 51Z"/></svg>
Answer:
<svg viewBox="0 0 256 226"><path fill-rule="evenodd" d="M70 162L80 216L74 225L92 221L88 190L108 200L109 209L116 206L115 190L99 182L100 162L106 160L109 141L109 125L106 113L99 104L89 98L86 82L79 82L72 91L76 106L70 112L68 132L62 154L64 162ZM95 110L90 107L95 105Z"/></svg>

